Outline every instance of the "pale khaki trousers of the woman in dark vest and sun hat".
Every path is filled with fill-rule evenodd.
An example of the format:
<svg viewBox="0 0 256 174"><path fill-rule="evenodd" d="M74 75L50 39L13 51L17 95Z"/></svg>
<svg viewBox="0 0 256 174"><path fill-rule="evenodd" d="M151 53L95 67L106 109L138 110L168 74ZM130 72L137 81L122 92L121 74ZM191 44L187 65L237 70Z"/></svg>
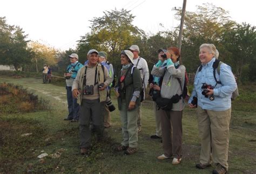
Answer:
<svg viewBox="0 0 256 174"><path fill-rule="evenodd" d="M126 108L125 100L122 100L120 118L122 122L123 146L137 148L138 131L137 131L138 107L131 111Z"/></svg>

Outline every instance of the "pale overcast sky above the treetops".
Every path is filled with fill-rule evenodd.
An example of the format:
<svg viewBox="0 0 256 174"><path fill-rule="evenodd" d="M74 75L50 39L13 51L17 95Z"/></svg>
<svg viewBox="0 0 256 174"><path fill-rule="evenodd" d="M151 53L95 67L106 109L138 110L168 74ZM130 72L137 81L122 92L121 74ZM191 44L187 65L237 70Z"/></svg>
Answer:
<svg viewBox="0 0 256 174"><path fill-rule="evenodd" d="M253 0L187 0L186 11L196 11L196 5L212 3L230 13L231 20L256 26ZM23 28L28 39L59 50L75 48L80 36L90 32L89 20L102 17L104 11L122 8L131 10L133 25L148 35L172 30L180 22L174 19L174 7L182 8L183 0L2 0L0 17L9 25ZM159 25L162 24L162 25Z"/></svg>

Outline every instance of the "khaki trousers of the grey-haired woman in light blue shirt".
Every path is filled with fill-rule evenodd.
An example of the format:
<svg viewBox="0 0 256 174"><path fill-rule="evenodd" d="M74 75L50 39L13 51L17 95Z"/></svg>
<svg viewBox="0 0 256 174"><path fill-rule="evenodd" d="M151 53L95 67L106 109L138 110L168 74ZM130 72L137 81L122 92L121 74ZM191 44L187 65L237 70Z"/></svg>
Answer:
<svg viewBox="0 0 256 174"><path fill-rule="evenodd" d="M230 138L231 108L210 111L197 107L199 137L201 138L200 163L219 163L228 170L228 142Z"/></svg>

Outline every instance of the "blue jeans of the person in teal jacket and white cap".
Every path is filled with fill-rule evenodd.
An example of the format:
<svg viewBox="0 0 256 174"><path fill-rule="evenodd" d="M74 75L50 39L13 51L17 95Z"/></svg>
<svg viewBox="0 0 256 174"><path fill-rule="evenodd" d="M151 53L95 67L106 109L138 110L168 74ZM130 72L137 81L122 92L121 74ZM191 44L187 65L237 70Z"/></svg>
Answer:
<svg viewBox="0 0 256 174"><path fill-rule="evenodd" d="M79 108L80 106L77 103L77 99L72 96L72 86L66 86L66 97L68 99L68 109L69 109L69 120L79 120Z"/></svg>

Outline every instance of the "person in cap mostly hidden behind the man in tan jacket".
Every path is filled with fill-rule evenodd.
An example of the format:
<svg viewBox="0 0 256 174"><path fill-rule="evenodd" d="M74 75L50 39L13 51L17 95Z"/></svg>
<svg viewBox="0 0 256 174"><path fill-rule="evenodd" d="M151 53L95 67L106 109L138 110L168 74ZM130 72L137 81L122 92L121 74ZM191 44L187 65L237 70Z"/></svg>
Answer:
<svg viewBox="0 0 256 174"><path fill-rule="evenodd" d="M111 70L110 64L106 62L106 57L107 57L106 52L99 52L98 62L107 68L107 71L109 71L109 76L112 78L113 66ZM112 78L112 81L113 81L113 78ZM106 99L106 105L104 106L104 127L109 128L111 126L110 112L116 110L116 108L114 107L110 99L110 86L107 86L106 90L107 90L107 99Z"/></svg>

